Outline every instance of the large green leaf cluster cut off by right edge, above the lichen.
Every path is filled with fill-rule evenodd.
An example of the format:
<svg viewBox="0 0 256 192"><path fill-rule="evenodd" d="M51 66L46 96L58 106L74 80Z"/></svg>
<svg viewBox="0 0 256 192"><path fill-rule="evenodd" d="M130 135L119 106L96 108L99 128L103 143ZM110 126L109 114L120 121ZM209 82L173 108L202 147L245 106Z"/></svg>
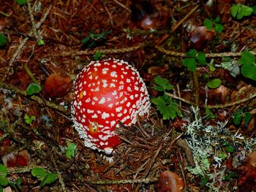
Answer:
<svg viewBox="0 0 256 192"><path fill-rule="evenodd" d="M241 74L251 80L256 81L256 64L255 55L252 55L248 50L244 50L241 53L241 58L238 59L238 63L241 64Z"/></svg>

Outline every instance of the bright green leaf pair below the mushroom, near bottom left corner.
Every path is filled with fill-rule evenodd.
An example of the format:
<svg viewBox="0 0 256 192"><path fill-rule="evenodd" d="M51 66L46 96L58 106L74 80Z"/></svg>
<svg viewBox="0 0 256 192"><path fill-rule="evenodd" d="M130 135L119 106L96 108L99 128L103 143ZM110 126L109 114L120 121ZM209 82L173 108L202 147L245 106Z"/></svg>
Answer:
<svg viewBox="0 0 256 192"><path fill-rule="evenodd" d="M35 167L32 169L31 174L41 181L39 184L40 187L53 183L58 178L56 173L48 172L47 170L40 167Z"/></svg>

